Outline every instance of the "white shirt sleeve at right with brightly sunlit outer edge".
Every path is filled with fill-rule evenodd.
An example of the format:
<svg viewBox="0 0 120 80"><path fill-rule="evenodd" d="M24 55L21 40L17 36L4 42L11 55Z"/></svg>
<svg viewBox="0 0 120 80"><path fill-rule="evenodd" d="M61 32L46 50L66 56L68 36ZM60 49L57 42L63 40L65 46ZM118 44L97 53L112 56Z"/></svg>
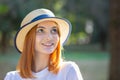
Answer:
<svg viewBox="0 0 120 80"><path fill-rule="evenodd" d="M79 67L74 62L67 73L67 80L83 80Z"/></svg>

